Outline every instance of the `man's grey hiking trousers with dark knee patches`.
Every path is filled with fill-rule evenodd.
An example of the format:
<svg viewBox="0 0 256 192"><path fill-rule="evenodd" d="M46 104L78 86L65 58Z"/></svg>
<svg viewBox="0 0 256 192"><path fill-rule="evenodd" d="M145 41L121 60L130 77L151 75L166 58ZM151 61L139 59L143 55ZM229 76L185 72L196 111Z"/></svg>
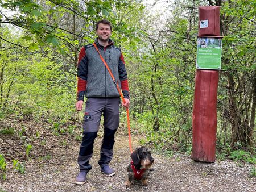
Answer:
<svg viewBox="0 0 256 192"><path fill-rule="evenodd" d="M97 137L101 116L104 117L104 137L98 164L103 168L113 158L114 135L119 126L119 97L88 98L85 103L84 133L80 145L78 164L81 172L89 172L93 155L93 143Z"/></svg>

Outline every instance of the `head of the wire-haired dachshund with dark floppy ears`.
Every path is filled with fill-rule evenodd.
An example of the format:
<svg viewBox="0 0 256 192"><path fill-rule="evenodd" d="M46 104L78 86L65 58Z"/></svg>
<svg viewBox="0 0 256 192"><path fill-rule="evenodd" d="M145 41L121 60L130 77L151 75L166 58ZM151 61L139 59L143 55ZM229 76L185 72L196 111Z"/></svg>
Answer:
<svg viewBox="0 0 256 192"><path fill-rule="evenodd" d="M154 158L151 157L150 151L146 147L139 147L133 153L131 153L131 160L134 165L141 165L142 168L150 168L154 162Z"/></svg>

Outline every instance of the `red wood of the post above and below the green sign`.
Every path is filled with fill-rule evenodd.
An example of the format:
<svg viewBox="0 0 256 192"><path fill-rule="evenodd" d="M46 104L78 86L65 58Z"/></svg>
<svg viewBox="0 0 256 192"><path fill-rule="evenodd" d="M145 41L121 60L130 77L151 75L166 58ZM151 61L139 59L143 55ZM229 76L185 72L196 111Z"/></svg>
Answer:
<svg viewBox="0 0 256 192"><path fill-rule="evenodd" d="M220 37L220 7L199 7L199 36ZM192 116L192 155L199 162L215 162L218 70L196 70Z"/></svg>

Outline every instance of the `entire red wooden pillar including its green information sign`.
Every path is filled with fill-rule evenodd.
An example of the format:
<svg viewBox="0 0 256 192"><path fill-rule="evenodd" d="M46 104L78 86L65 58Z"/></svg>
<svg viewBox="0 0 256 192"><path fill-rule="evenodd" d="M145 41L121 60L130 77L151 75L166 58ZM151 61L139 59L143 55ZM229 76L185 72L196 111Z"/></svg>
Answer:
<svg viewBox="0 0 256 192"><path fill-rule="evenodd" d="M221 69L220 7L199 7L192 156L215 162L218 70Z"/></svg>

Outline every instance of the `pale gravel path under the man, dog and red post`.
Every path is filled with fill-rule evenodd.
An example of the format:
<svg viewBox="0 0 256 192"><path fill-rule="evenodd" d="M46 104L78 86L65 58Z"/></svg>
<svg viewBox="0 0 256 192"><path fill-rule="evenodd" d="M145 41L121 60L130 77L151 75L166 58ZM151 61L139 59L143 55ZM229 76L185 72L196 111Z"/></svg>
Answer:
<svg viewBox="0 0 256 192"><path fill-rule="evenodd" d="M73 182L79 172L77 154L80 142L71 141L66 147L52 147L52 158L26 162L26 174L7 173L7 180L0 180L0 191L256 191L256 178L250 178L250 168L255 165L236 165L234 162L217 161L214 164L194 162L188 156L167 157L152 151L155 170L150 173L149 185L135 182L125 189L126 168L130 161L127 136L117 135L111 166L117 170L113 177L100 173L97 164L101 137L95 141L91 161L93 169L85 185ZM133 147L138 140L133 137Z"/></svg>

